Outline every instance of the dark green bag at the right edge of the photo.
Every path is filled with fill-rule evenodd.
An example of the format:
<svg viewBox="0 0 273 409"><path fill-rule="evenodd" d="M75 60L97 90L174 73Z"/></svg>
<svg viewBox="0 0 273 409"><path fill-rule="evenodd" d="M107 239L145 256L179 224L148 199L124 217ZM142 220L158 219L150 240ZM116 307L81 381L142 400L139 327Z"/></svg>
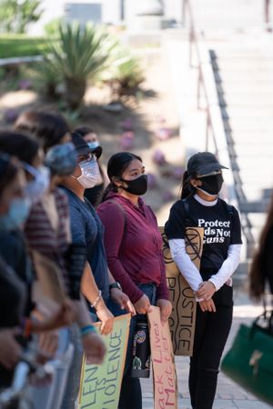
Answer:
<svg viewBox="0 0 273 409"><path fill-rule="evenodd" d="M273 404L273 312L241 324L221 369L259 399Z"/></svg>

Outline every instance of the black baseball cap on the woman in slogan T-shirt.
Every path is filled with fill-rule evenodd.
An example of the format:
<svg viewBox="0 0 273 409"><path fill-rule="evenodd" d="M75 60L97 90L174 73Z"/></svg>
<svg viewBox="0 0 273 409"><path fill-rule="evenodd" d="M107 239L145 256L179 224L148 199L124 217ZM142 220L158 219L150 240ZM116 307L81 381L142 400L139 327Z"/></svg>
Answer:
<svg viewBox="0 0 273 409"><path fill-rule="evenodd" d="M217 157L211 152L198 152L192 155L187 161L188 175L209 175L220 169L228 169L226 166L220 165Z"/></svg>

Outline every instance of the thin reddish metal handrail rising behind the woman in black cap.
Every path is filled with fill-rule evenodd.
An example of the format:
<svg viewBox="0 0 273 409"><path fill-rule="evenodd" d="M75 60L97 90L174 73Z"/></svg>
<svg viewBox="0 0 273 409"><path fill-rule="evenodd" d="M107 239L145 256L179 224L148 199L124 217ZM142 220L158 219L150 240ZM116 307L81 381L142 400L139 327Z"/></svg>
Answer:
<svg viewBox="0 0 273 409"><path fill-rule="evenodd" d="M217 138L216 133L212 124L212 115L210 112L210 105L208 100L207 94L207 86L204 80L204 72L203 72L203 65L201 61L198 40L197 40L197 32L194 23L194 17L192 13L192 8L189 0L184 0L183 2L183 19L185 21L186 13L189 15L189 66L193 67L192 60L193 60L193 47L196 49L196 56L197 56L197 70L198 70L198 79L197 79L197 109L201 109L200 105L200 96L201 96L201 88L203 88L203 95L206 101L206 151L208 150L208 139L209 139L209 131L211 132L213 143L215 145L216 155L217 155Z"/></svg>

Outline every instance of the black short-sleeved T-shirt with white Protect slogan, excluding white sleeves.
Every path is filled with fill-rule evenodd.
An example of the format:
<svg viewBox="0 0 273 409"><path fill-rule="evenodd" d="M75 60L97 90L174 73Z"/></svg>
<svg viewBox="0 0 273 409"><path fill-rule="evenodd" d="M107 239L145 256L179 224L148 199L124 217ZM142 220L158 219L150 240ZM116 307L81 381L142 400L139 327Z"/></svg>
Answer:
<svg viewBox="0 0 273 409"><path fill-rule="evenodd" d="M217 274L227 258L230 244L241 244L241 224L238 211L218 199L216 205L201 205L192 196L185 203L178 200L170 210L165 233L168 240L184 239L186 227L203 227L204 241L200 272ZM230 208L232 207L232 211Z"/></svg>

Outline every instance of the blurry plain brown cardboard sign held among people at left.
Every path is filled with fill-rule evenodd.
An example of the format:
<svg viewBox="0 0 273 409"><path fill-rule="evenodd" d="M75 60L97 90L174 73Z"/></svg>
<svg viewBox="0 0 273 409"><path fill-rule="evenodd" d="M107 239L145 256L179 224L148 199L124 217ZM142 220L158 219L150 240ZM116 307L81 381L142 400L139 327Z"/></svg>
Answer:
<svg viewBox="0 0 273 409"><path fill-rule="evenodd" d="M66 285L59 266L35 250L32 250L31 254L40 291L57 304L63 303L66 298Z"/></svg>

